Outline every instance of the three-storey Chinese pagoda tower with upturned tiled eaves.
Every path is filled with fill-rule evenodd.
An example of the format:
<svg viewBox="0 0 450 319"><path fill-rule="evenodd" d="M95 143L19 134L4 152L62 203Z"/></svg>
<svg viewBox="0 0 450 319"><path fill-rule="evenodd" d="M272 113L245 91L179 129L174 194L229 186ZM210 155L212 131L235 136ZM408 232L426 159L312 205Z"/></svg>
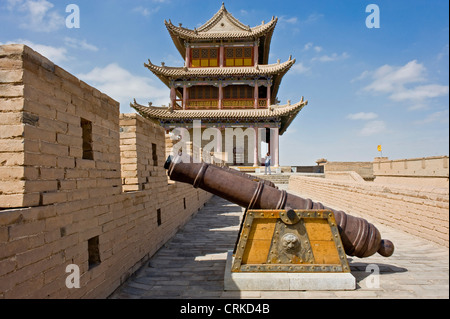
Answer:
<svg viewBox="0 0 450 319"><path fill-rule="evenodd" d="M204 151L199 156L206 162L211 154L214 161L230 166L256 167L266 155L262 143L267 143L272 165L278 167L279 137L308 104L302 97L298 103L279 105L278 89L295 59L268 64L278 19L251 28L222 4L208 22L193 30L164 22L184 66L155 65L150 60L145 66L169 87L170 105L143 106L134 101L131 106L167 132L187 130L191 145Z"/></svg>

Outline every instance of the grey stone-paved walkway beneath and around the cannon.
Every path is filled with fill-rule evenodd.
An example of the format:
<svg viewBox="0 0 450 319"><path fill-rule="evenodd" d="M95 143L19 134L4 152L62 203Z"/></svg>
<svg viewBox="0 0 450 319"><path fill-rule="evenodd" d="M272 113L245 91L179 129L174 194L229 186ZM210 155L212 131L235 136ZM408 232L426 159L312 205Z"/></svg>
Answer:
<svg viewBox="0 0 450 319"><path fill-rule="evenodd" d="M111 299L447 299L449 249L376 224L396 245L390 258L349 258L354 291L223 291L226 255L237 240L243 209L219 197L205 207ZM369 265L380 269L374 276ZM377 279L379 285L377 287Z"/></svg>

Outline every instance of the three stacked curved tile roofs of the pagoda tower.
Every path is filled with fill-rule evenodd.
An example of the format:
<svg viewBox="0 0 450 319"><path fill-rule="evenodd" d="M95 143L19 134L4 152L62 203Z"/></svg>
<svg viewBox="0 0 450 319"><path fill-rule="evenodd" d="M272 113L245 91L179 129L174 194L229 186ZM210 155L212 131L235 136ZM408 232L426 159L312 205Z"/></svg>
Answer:
<svg viewBox="0 0 450 319"><path fill-rule="evenodd" d="M221 43L222 41L232 40L241 42L259 41L259 61L255 66L241 66L241 67L168 67L164 64L161 66L153 64L150 60L145 66L153 72L162 82L168 87L171 86L171 81L186 80L195 81L196 79L222 79L227 78L243 78L251 77L271 77L272 78L272 93L271 104L275 104L278 88L284 75L295 64L289 57L286 62L270 64L269 51L272 35L278 19L272 19L261 25L251 28L241 23L234 18L222 4L220 10L204 25L195 29L188 29L175 26L169 20L164 21L169 31L175 46L180 52L181 56L186 59L186 44L192 43ZM262 62L262 63L261 63ZM181 94L177 91L177 94ZM287 105L272 105L267 109L214 109L214 110L177 110L168 107L153 107L143 106L136 101L131 104L139 114L143 117L163 123L184 123L192 120L204 120L205 122L222 122L233 123L245 121L268 122L274 121L280 123L280 134L283 134L298 113L308 104L303 98L296 104Z"/></svg>

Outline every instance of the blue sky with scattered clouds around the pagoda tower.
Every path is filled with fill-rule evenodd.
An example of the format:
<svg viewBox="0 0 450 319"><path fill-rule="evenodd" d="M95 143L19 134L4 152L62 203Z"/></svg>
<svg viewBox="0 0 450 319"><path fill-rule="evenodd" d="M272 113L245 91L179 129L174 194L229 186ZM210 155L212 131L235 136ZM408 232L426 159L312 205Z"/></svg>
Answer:
<svg viewBox="0 0 450 319"><path fill-rule="evenodd" d="M80 28L66 27L66 6ZM121 103L167 104L168 89L144 63L183 61L164 19L194 28L212 0L0 0L0 43L25 43ZM369 4L380 28L366 26ZM449 4L444 0L225 1L244 24L279 18L269 63L297 63L278 93L309 105L281 137L282 165L449 154Z"/></svg>

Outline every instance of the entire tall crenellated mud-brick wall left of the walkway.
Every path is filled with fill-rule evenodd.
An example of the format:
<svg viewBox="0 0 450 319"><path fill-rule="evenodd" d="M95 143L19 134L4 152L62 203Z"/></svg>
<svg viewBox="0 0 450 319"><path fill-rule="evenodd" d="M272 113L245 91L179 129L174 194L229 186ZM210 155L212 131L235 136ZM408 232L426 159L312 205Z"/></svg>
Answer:
<svg viewBox="0 0 450 319"><path fill-rule="evenodd" d="M0 121L0 299L106 298L212 196L168 184L163 130L23 45L0 46Z"/></svg>

